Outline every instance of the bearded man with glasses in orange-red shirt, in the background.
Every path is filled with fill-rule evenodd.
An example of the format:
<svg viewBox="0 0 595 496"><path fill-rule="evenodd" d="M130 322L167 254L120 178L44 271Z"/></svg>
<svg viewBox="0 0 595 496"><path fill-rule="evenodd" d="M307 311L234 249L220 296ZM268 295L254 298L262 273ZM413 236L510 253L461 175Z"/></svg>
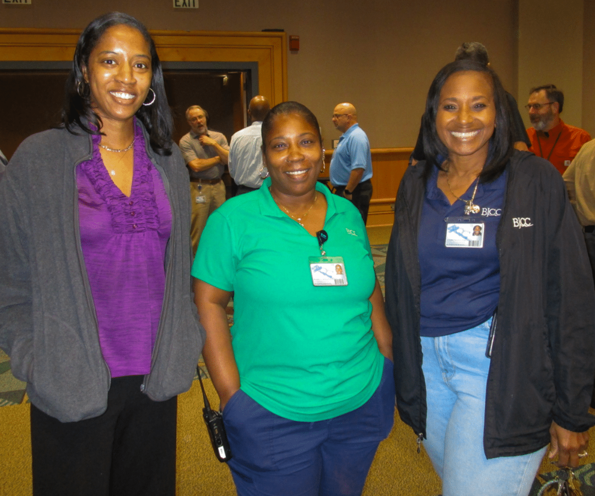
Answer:
<svg viewBox="0 0 595 496"><path fill-rule="evenodd" d="M533 127L527 129L531 151L549 160L563 174L591 136L584 129L569 126L560 118L564 93L555 85L531 88L525 108Z"/></svg>

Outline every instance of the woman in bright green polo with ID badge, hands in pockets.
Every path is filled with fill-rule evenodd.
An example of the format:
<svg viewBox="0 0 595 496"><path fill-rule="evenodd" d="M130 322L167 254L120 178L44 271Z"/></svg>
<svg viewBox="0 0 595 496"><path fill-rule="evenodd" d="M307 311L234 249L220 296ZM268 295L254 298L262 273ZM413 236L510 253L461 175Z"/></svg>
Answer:
<svg viewBox="0 0 595 496"><path fill-rule="evenodd" d="M275 106L262 142L270 177L209 217L192 268L228 464L240 496L358 495L394 415L365 226L317 182L324 151L306 107Z"/></svg>

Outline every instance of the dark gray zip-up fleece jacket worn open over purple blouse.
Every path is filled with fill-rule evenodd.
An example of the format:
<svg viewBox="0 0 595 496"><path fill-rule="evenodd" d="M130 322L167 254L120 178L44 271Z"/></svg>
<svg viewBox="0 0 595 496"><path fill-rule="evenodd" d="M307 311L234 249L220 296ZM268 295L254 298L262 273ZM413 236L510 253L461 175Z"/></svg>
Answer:
<svg viewBox="0 0 595 496"><path fill-rule="evenodd" d="M173 215L161 320L141 386L163 401L190 388L205 331L190 277L188 172L175 144L162 157L143 132ZM0 348L32 403L61 422L101 415L111 381L80 248L76 166L91 157L90 135L51 129L23 141L0 181Z"/></svg>

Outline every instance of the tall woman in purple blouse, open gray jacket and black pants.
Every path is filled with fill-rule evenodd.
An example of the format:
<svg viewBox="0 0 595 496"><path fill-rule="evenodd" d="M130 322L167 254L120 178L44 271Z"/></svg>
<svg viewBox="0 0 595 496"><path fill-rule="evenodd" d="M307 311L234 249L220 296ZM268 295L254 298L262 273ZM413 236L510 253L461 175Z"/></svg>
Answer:
<svg viewBox="0 0 595 496"><path fill-rule="evenodd" d="M92 21L66 93L63 125L24 141L0 183L0 346L32 401L33 493L173 496L176 395L203 329L146 28Z"/></svg>

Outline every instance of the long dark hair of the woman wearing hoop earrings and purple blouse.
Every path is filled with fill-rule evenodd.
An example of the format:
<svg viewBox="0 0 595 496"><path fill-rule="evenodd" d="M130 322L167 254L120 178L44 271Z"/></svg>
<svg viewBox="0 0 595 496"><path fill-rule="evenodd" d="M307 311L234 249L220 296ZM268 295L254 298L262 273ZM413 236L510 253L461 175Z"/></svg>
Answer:
<svg viewBox="0 0 595 496"><path fill-rule="evenodd" d="M155 43L146 27L128 14L110 12L100 15L91 21L79 37L79 42L74 51L73 68L68 75L65 85L64 107L62 108L62 123L73 134L78 134L76 126L90 134L102 134L101 118L91 108L90 88L83 77L83 68L89 64L89 55L104 35L112 26L126 24L138 30L149 45L151 51L151 88L155 92L155 101L152 105L141 105L136 112L136 117L145 125L149 133L151 148L159 155L171 154L171 133L174 129L170 107L165 96L163 84L163 71L161 62L155 49ZM151 101L152 93L147 97ZM95 124L98 130L90 129L86 121ZM76 126L75 126L76 124Z"/></svg>

